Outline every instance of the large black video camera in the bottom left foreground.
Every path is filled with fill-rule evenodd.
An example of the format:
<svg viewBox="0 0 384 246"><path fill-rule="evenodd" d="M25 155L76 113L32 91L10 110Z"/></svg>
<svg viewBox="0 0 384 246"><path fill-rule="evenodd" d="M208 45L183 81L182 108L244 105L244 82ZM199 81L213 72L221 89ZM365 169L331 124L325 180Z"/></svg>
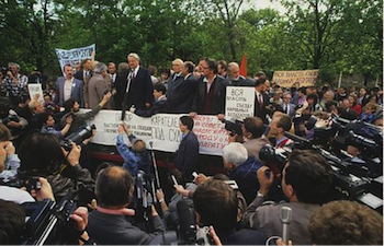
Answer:
<svg viewBox="0 0 384 246"><path fill-rule="evenodd" d="M26 222L20 245L78 245L79 232L69 218L77 208L72 200L64 198L59 203L44 200L22 206Z"/></svg>

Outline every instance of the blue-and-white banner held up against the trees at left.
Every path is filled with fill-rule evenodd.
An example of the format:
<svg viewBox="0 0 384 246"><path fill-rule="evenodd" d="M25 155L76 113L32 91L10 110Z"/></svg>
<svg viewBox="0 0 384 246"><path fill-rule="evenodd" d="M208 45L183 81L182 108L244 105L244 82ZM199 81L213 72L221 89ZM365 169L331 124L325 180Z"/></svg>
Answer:
<svg viewBox="0 0 384 246"><path fill-rule="evenodd" d="M60 63L61 72L64 73L64 66L70 65L75 68L76 63L81 62L83 59L91 59L92 52L95 51L95 45L90 45L81 48L74 49L56 49L56 55Z"/></svg>

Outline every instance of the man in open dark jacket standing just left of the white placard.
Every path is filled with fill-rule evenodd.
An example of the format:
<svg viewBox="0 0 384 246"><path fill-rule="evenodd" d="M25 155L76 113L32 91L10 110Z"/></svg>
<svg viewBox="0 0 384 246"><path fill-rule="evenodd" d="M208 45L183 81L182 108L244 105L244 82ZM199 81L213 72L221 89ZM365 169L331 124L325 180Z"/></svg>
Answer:
<svg viewBox="0 0 384 246"><path fill-rule="evenodd" d="M190 115L217 115L224 119L225 94L228 81L217 74L217 65L214 59L206 58L201 61L203 77L197 81L197 90L192 103Z"/></svg>

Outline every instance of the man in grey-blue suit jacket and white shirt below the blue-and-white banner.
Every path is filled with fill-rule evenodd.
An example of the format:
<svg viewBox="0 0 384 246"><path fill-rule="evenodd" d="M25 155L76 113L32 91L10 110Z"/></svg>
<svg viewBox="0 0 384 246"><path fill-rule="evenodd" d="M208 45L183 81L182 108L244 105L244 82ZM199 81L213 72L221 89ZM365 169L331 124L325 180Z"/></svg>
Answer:
<svg viewBox="0 0 384 246"><path fill-rule="evenodd" d="M58 105L63 107L64 102L74 98L79 103L80 107L83 107L82 81L74 78L74 69L70 65L64 66L64 73L66 77L59 77L57 79L57 87L59 92Z"/></svg>

